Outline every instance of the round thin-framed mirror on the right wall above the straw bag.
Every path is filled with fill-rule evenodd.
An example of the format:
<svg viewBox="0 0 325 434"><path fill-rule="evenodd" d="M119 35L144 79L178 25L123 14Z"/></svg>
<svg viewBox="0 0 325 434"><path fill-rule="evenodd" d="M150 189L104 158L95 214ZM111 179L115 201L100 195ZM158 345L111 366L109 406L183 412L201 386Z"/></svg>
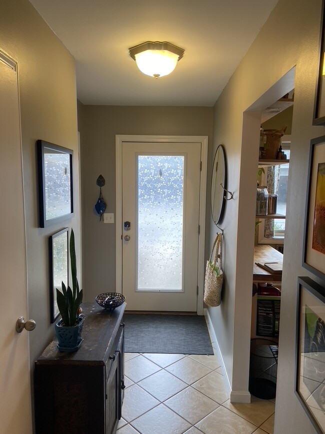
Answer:
<svg viewBox="0 0 325 434"><path fill-rule="evenodd" d="M212 177L211 177L211 216L215 224L218 224L223 217L224 206L225 206L225 191L227 188L227 169L226 169L226 159L225 151L222 145L216 148ZM221 187L221 185L223 188Z"/></svg>

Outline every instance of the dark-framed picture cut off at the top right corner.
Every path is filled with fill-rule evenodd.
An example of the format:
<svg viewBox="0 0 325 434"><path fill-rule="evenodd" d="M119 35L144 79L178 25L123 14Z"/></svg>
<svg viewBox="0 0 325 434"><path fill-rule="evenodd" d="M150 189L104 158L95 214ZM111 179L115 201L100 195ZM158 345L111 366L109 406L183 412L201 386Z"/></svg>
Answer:
<svg viewBox="0 0 325 434"><path fill-rule="evenodd" d="M319 43L319 67L315 92L314 115L312 125L325 125L325 20L324 0L321 8L321 29Z"/></svg>

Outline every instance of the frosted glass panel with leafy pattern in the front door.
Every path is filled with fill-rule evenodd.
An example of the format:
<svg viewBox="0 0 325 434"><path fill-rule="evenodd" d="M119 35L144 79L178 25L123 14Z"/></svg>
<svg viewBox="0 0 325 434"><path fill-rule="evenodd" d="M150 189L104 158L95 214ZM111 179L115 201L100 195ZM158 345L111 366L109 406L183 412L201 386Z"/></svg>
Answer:
<svg viewBox="0 0 325 434"><path fill-rule="evenodd" d="M184 156L137 159L137 290L182 291Z"/></svg>

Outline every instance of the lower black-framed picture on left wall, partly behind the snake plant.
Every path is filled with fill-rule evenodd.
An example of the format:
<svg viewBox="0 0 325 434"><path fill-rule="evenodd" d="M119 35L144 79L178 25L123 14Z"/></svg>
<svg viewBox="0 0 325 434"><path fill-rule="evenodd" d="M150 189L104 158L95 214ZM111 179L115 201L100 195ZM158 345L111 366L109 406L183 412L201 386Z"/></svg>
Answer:
<svg viewBox="0 0 325 434"><path fill-rule="evenodd" d="M50 318L54 322L59 311L56 302L56 288L62 282L68 285L68 228L49 237L49 279L50 279Z"/></svg>

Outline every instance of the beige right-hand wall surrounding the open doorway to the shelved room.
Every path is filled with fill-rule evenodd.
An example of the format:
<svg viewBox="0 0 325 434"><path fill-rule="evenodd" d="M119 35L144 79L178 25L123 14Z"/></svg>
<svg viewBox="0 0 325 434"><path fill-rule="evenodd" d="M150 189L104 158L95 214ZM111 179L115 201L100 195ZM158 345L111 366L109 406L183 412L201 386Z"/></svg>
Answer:
<svg viewBox="0 0 325 434"><path fill-rule="evenodd" d="M213 148L218 143L225 145L228 188L234 191L234 200L226 205L223 224L226 277L223 302L219 309L209 309L209 312L232 391L239 395L245 393L248 381L249 275L253 260L259 138L258 116L250 112L243 117L243 113L255 101L257 103L251 110L258 111L280 98L283 91L280 87L275 87L270 94L267 91L296 66L274 425L274 432L278 434L314 432L294 394L294 362L297 276L310 275L317 280L301 267L301 262L309 143L311 138L325 133L323 127L311 125L320 11L320 0L312 2L312 5L306 0L279 0L214 108ZM270 97L274 98L273 101ZM247 128L249 126L251 129ZM213 230L211 224L211 240Z"/></svg>

